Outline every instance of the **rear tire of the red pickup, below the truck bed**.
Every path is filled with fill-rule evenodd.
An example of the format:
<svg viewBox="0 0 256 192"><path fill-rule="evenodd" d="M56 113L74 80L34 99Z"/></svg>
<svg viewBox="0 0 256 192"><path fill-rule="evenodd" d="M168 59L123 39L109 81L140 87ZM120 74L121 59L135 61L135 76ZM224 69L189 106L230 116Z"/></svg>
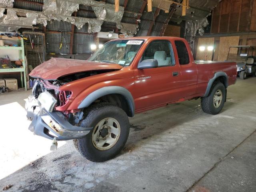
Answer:
<svg viewBox="0 0 256 192"><path fill-rule="evenodd" d="M216 97L218 97L219 96L218 93L222 94L222 100L220 102L217 102L218 105L216 106L216 103L214 103L214 99L215 99L214 95L216 94ZM218 97L218 98L220 98L220 97ZM225 86L219 81L214 82L209 95L207 97L201 98L201 107L202 107L203 112L205 112L207 114L212 114L212 115L216 115L216 114L220 113L220 111L222 110L222 108L224 106L225 99L226 99Z"/></svg>

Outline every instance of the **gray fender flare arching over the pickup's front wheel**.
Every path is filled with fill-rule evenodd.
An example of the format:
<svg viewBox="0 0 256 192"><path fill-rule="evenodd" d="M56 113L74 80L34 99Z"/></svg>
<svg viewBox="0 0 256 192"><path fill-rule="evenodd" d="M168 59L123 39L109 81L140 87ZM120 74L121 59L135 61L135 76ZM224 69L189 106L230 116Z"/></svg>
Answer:
<svg viewBox="0 0 256 192"><path fill-rule="evenodd" d="M126 98L129 106L130 114L128 116L133 117L135 113L135 104L132 94L124 87L120 86L107 86L102 87L92 93L90 93L82 102L79 104L78 109L86 108L92 104L96 99L108 95L108 94L120 94Z"/></svg>

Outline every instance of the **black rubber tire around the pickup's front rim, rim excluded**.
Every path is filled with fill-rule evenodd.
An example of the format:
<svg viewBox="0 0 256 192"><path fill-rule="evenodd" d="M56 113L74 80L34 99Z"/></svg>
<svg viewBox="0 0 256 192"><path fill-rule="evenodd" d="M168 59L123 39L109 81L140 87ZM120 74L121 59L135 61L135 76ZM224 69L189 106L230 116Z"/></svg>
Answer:
<svg viewBox="0 0 256 192"><path fill-rule="evenodd" d="M119 125L118 138L116 136L117 139L114 145L112 144L113 146L109 149L107 147L103 149L103 146L102 148L96 148L97 144L94 142L94 136L96 135L95 132L98 132L99 129L99 134L101 134L99 123L105 119L109 120L109 122L110 120L115 120L116 124ZM108 121L104 121L104 125L106 122ZM104 128L104 125L102 126L102 128ZM124 145L126 144L130 132L129 119L124 110L122 110L118 106L106 102L94 104L89 107L88 110L86 110L85 112L85 118L80 122L80 126L93 127L89 134L87 134L83 138L74 140L75 148L84 158L92 162L103 162L114 158L114 156L119 154ZM108 134L109 132L110 131L108 130ZM110 133L109 136L112 137L112 133ZM108 137L106 136L105 138ZM100 141L98 141L98 143Z"/></svg>

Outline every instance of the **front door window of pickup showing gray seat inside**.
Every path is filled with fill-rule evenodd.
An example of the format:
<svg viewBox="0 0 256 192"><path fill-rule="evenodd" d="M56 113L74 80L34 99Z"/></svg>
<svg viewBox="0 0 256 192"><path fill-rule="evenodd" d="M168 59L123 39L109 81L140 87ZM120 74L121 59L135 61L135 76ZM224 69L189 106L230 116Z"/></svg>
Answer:
<svg viewBox="0 0 256 192"><path fill-rule="evenodd" d="M142 56L142 60L146 59L156 59L158 67L175 65L172 46L165 40L151 42Z"/></svg>

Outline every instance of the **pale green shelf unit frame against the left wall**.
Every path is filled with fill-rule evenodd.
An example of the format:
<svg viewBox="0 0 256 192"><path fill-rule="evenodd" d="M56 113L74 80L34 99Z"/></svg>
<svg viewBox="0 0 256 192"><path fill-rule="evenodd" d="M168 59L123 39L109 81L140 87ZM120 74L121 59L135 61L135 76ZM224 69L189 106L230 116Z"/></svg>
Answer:
<svg viewBox="0 0 256 192"><path fill-rule="evenodd" d="M20 72L20 80L21 86L23 88L23 83L25 86L25 90L27 90L27 81L26 81L26 64L25 64L25 52L24 52L24 42L23 38L18 39L18 47L6 47L0 46L0 50L19 50L19 58L22 59L22 66L23 68L6 68L0 69L0 73L9 73L9 72ZM23 75L22 75L23 72ZM24 77L24 80L23 80Z"/></svg>

